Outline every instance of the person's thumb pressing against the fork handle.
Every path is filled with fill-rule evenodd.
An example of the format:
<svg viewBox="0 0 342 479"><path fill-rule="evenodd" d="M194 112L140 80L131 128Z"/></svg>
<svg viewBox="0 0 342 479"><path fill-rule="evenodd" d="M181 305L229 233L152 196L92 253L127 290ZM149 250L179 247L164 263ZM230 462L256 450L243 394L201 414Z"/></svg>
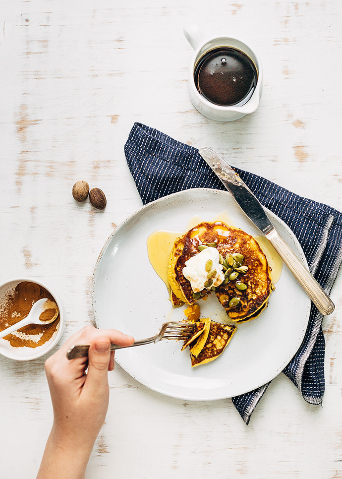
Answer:
<svg viewBox="0 0 342 479"><path fill-rule="evenodd" d="M99 390L108 386L108 366L111 359L110 340L104 337L96 338L88 352L87 388Z"/></svg>

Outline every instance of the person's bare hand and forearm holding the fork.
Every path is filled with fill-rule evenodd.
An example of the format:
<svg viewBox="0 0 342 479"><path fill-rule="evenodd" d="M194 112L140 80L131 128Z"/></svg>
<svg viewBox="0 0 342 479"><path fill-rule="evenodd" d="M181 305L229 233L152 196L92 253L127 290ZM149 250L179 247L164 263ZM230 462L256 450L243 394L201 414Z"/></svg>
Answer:
<svg viewBox="0 0 342 479"><path fill-rule="evenodd" d="M59 473L56 477L84 477L91 450L108 409L108 370L114 369L111 342L129 346L134 339L114 329L101 330L86 326L46 360L54 423L38 478L55 477L52 476L54 469L51 468L51 460L57 462L57 457L59 462L62 458L65 474ZM66 353L74 344L90 344L88 358L68 360ZM74 469L76 463L80 465L77 471Z"/></svg>

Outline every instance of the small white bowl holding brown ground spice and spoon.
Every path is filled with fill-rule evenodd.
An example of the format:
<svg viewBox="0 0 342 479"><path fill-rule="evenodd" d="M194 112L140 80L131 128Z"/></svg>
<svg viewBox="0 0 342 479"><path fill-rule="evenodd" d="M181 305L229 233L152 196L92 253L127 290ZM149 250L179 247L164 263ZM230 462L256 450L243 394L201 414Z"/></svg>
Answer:
<svg viewBox="0 0 342 479"><path fill-rule="evenodd" d="M35 278L15 279L2 284L0 286L0 304L6 293L9 292L12 288L15 288L19 283L22 283L23 281L35 283L49 291L49 293L54 297L59 309L58 329L53 334L52 338L49 339L49 341L47 341L46 343L44 343L42 346L37 346L36 348L28 348L26 346L15 348L11 346L8 341L3 338L0 338L1 355L6 356L10 359L16 359L18 361L30 361L31 359L40 358L41 356L51 351L54 346L56 346L64 329L64 314L62 309L62 303L57 293L52 290L49 285L45 283L43 284L40 281L37 281Z"/></svg>

